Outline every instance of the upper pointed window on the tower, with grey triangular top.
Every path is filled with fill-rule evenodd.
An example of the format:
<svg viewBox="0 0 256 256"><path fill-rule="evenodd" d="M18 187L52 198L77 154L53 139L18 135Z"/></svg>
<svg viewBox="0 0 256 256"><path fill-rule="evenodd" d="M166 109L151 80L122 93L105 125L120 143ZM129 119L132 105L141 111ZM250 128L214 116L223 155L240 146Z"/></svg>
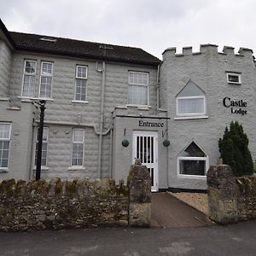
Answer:
<svg viewBox="0 0 256 256"><path fill-rule="evenodd" d="M206 114L206 96L195 83L189 81L176 96L177 116Z"/></svg>

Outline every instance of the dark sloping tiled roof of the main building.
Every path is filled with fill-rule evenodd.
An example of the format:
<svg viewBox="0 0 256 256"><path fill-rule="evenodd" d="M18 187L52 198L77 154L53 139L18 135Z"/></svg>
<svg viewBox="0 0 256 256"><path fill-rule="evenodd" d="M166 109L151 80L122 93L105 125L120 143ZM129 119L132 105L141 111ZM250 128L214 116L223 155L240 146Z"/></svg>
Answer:
<svg viewBox="0 0 256 256"><path fill-rule="evenodd" d="M17 50L36 53L66 55L102 61L118 61L157 66L160 60L141 48L100 44L69 38L55 38L44 35L9 32L0 19L0 28ZM42 38L44 38L42 40ZM51 40L49 40L49 38Z"/></svg>

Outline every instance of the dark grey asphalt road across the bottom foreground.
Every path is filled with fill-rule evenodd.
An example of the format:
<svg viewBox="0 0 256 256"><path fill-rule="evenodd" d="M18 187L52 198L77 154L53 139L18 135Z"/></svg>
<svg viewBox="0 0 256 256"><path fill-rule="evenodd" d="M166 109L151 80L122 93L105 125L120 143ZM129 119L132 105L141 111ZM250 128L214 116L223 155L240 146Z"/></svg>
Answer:
<svg viewBox="0 0 256 256"><path fill-rule="evenodd" d="M256 220L172 229L0 232L1 256L255 256Z"/></svg>

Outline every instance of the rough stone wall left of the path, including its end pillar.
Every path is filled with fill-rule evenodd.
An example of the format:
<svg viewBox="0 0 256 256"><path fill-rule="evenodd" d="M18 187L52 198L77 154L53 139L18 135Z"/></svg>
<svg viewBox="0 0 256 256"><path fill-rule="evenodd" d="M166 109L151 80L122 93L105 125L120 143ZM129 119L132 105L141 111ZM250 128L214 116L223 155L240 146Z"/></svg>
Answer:
<svg viewBox="0 0 256 256"><path fill-rule="evenodd" d="M61 181L55 178L15 182L14 178L5 179L0 183L0 230L126 226L132 211L138 214L137 222L131 225L148 226L151 189L148 169L141 165L131 166L131 171L133 169L136 172L132 172L131 183L137 186L130 186L130 189L113 180ZM140 191L140 198L147 200L137 201L131 210L129 203L133 201L132 196L129 200L129 195L137 191Z"/></svg>

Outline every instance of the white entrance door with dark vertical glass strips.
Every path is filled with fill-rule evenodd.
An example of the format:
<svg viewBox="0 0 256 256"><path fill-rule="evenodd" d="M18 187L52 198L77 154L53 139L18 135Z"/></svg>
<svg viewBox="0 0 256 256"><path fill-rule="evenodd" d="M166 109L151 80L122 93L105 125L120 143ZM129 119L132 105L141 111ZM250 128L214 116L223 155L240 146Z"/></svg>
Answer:
<svg viewBox="0 0 256 256"><path fill-rule="evenodd" d="M158 190L158 151L156 131L134 131L132 141L132 162L142 160L151 177L151 191Z"/></svg>

